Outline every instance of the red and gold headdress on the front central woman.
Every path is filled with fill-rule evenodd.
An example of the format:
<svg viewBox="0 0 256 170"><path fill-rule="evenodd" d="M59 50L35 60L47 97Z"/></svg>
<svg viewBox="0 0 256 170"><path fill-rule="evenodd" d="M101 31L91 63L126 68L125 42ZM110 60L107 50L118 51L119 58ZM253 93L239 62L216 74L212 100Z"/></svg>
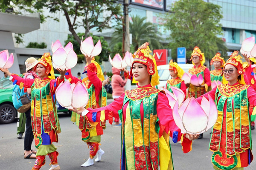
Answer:
<svg viewBox="0 0 256 170"><path fill-rule="evenodd" d="M159 75L157 72L157 64L156 60L154 59L155 54L153 56L149 53L152 51L148 47L149 42L145 42L143 45L141 45L138 50L132 54L132 57L134 58L132 65L134 62L139 62L147 66L148 68L148 74L152 75L151 77L151 86L155 86L159 84ZM131 76L132 76L132 66L131 66ZM133 83L136 82L133 80Z"/></svg>

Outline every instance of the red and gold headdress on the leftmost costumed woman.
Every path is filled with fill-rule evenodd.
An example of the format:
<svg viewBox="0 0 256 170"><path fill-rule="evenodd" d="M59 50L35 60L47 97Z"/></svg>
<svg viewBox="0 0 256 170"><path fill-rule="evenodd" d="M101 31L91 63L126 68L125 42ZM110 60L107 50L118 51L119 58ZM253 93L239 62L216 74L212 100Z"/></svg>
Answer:
<svg viewBox="0 0 256 170"><path fill-rule="evenodd" d="M46 68L46 71L45 71L46 74L51 74L51 76L49 76L50 79L55 79L54 70L52 67L52 57L50 53L44 53L41 59L38 59L38 64L44 65L44 67ZM36 70L36 67L35 67L35 70Z"/></svg>

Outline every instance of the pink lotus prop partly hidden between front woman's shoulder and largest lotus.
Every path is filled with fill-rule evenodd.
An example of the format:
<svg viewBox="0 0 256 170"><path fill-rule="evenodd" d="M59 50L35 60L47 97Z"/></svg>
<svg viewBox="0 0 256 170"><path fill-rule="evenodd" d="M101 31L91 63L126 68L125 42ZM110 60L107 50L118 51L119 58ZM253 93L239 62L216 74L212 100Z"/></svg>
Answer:
<svg viewBox="0 0 256 170"><path fill-rule="evenodd" d="M169 105L173 109L173 106L175 105L176 101L178 101L179 105L181 105L181 103L185 99L185 94L179 88L175 88L175 87L171 86L171 89L172 89L172 93L169 90L167 90L166 88L163 89L163 91L166 92L166 96L169 100Z"/></svg>

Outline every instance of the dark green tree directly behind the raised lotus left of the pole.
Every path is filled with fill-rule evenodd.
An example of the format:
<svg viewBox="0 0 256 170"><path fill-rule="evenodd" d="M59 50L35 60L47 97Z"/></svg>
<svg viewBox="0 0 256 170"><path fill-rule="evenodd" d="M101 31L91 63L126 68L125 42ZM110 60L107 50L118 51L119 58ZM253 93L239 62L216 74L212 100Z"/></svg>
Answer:
<svg viewBox="0 0 256 170"><path fill-rule="evenodd" d="M79 37L82 37L84 34L83 33L78 33L77 34ZM109 51L110 48L108 47L108 42L106 40L104 40L104 37L98 37L98 36L94 36L92 34L90 34L90 36L93 38L93 43L94 45L100 40L101 44L102 44L102 52L99 54L99 56L95 57L95 60L97 62L99 62L99 64L102 61L108 61L108 55L109 55ZM72 42L73 44L73 49L77 54L78 57L78 62L81 63L85 58L84 55L81 53L80 51L80 43L81 42L77 42L74 38L73 35L68 35L67 40L65 41L65 44L67 44L68 42Z"/></svg>

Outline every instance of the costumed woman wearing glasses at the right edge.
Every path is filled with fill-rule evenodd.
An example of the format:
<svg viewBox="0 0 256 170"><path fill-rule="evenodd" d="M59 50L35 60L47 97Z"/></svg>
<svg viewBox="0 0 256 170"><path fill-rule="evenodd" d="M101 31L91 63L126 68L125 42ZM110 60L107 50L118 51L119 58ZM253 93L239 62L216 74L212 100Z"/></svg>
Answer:
<svg viewBox="0 0 256 170"><path fill-rule="evenodd" d="M244 82L243 65L234 51L224 65L223 85L203 95L215 99L218 109L209 144L215 170L243 170L253 160L249 105L256 105L256 92Z"/></svg>

